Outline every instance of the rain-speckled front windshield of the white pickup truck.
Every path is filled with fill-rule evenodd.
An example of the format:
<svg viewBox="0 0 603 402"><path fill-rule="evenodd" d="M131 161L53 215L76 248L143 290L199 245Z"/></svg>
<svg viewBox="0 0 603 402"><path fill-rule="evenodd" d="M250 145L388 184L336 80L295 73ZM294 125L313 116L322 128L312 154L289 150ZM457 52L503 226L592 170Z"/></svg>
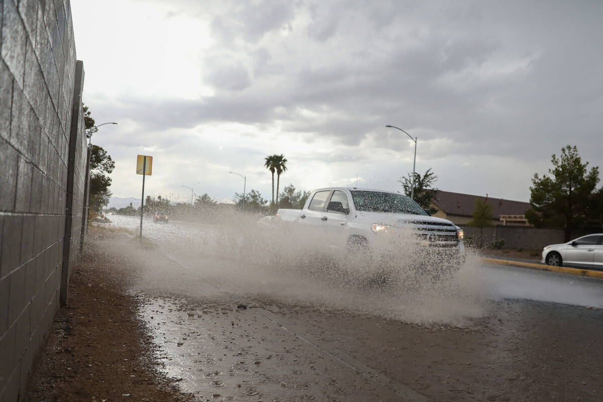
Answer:
<svg viewBox="0 0 603 402"><path fill-rule="evenodd" d="M351 193L354 206L358 211L427 215L417 203L406 195L361 190L351 191Z"/></svg>

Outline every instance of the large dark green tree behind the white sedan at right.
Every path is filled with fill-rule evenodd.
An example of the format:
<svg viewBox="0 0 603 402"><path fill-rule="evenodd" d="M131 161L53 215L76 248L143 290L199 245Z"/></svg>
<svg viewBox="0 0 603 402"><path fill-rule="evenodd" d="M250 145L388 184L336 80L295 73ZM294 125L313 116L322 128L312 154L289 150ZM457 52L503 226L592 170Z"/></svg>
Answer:
<svg viewBox="0 0 603 402"><path fill-rule="evenodd" d="M599 182L599 168L587 171L576 146L561 148L561 155L551 157L551 175L532 178L530 206L526 211L528 222L535 227L556 227L564 230L565 241L572 238L572 229L596 222L601 210L601 198L595 192ZM601 190L599 190L601 191Z"/></svg>

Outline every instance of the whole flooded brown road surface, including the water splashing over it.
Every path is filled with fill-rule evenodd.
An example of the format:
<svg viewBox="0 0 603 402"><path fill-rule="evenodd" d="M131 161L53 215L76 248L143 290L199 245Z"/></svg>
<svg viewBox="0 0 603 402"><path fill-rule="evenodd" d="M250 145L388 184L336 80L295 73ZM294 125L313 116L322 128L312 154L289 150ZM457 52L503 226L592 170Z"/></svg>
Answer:
<svg viewBox="0 0 603 402"><path fill-rule="evenodd" d="M199 400L601 400L601 280L472 257L443 283L367 286L256 227L154 233L107 246L139 263L158 359Z"/></svg>

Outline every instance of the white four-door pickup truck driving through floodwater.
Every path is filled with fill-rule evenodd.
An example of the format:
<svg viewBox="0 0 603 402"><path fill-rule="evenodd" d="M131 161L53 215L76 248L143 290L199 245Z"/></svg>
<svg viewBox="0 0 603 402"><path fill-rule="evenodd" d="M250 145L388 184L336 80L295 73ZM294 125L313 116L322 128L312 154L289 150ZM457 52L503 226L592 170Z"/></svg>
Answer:
<svg viewBox="0 0 603 402"><path fill-rule="evenodd" d="M419 259L429 254L457 268L465 260L463 230L398 193L326 187L312 193L303 209L279 209L276 215L277 221L317 228L348 253L390 251Z"/></svg>

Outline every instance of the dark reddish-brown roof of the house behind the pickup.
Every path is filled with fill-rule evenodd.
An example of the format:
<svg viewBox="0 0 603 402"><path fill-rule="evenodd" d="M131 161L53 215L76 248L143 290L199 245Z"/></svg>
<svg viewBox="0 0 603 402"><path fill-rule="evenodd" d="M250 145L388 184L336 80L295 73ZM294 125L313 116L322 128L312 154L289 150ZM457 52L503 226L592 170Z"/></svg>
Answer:
<svg viewBox="0 0 603 402"><path fill-rule="evenodd" d="M438 190L434 204L449 215L473 216L476 198L485 198L485 196ZM526 210L530 209L529 203L504 198L488 197L488 204L493 207L492 218L494 219L498 219L500 215L524 215Z"/></svg>

